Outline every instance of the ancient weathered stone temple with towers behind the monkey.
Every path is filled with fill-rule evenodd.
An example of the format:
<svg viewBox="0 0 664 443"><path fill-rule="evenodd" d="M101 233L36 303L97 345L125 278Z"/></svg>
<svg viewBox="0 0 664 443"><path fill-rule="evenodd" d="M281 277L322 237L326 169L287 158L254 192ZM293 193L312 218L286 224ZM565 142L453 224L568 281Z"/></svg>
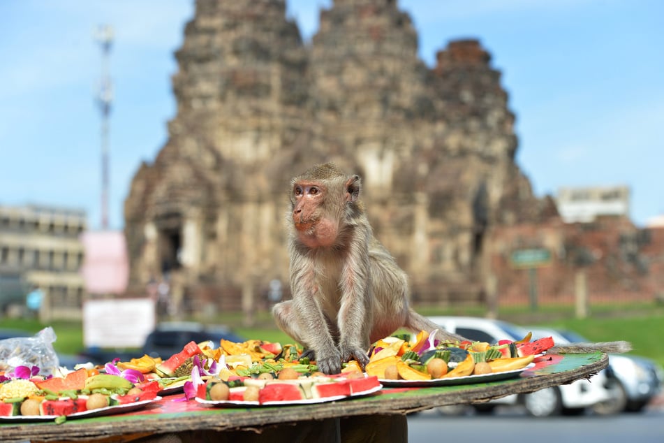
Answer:
<svg viewBox="0 0 664 443"><path fill-rule="evenodd" d="M416 303L482 296L492 227L556 211L515 164L490 55L453 41L428 68L396 3L335 0L305 45L283 0L196 2L168 142L125 203L133 290L167 276L196 310L251 310L274 279L288 296L289 179L337 161Z"/></svg>

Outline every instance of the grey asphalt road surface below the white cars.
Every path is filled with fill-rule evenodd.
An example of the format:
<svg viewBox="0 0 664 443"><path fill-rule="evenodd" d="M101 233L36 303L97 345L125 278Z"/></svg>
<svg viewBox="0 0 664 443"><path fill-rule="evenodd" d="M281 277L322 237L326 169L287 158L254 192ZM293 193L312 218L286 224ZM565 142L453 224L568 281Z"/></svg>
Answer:
<svg viewBox="0 0 664 443"><path fill-rule="evenodd" d="M521 437L517 437L521 436ZM489 416L443 416L434 410L408 416L408 442L461 442L469 440L514 443L661 443L664 409L616 416L557 416L536 419L514 409Z"/></svg>

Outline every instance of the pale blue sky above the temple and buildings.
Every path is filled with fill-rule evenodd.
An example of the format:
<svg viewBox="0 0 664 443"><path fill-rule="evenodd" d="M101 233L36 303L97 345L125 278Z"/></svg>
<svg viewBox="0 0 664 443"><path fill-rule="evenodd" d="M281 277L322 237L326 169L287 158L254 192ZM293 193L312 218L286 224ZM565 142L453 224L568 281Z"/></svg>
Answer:
<svg viewBox="0 0 664 443"><path fill-rule="evenodd" d="M331 1L287 0L304 38ZM664 2L401 0L429 66L455 38L478 38L503 73L517 162L538 196L626 184L644 226L664 214ZM193 0L2 0L0 205L87 211L101 228L101 50L110 73L110 228L121 228L131 177L152 161L175 116L173 52Z"/></svg>

